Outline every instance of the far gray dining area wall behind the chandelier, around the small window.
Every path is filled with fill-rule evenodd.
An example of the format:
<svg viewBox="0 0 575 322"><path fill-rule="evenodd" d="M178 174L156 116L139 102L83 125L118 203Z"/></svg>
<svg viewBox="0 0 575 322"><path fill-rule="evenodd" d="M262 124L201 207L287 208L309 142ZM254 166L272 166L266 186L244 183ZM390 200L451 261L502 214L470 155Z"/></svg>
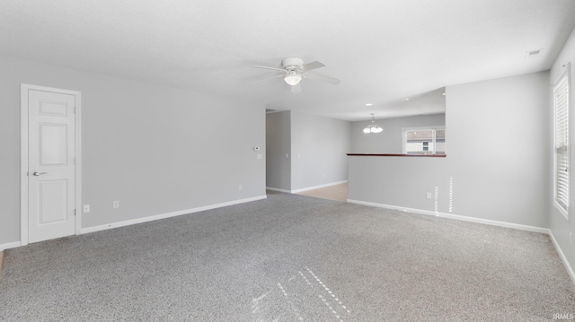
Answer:
<svg viewBox="0 0 575 322"><path fill-rule="evenodd" d="M352 153L403 153L403 128L418 126L445 126L446 115L421 115L417 117L394 117L376 119L376 125L382 126L384 132L365 134L363 129L371 121L351 123ZM447 143L447 148L449 143Z"/></svg>

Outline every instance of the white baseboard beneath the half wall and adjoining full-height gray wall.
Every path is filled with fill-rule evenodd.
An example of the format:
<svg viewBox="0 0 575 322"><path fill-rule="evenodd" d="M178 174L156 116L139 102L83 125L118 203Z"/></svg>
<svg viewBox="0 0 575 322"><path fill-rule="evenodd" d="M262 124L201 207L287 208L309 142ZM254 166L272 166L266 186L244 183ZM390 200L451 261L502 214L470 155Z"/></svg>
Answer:
<svg viewBox="0 0 575 322"><path fill-rule="evenodd" d="M378 208L394 209L394 210L400 210L400 211L408 212L408 213L427 214L427 215L432 215L432 216L437 216L437 217L442 217L442 218L455 219L455 220L462 221L462 222L483 223L483 224L491 225L491 226L500 226L500 227L512 228L512 229L516 229L519 231L533 231L533 232L540 232L540 233L545 233L545 234L549 232L549 230L546 228L527 226L527 225L522 225L519 223L492 221L490 219L469 217L469 216L463 216L460 214L436 213L436 212L429 211L429 210L406 208L406 207L400 207L397 205L376 204L376 203L369 203L369 202L365 202L365 201L352 200L352 199L348 199L348 203L349 204L357 204L357 205L370 205L370 206L374 206L374 207L378 207Z"/></svg>

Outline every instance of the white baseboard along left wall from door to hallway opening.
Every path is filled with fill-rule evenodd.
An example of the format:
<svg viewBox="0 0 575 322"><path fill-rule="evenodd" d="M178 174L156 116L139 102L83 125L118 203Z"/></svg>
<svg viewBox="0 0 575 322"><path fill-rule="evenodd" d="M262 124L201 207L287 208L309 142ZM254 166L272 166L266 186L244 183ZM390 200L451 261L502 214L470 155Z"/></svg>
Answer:
<svg viewBox="0 0 575 322"><path fill-rule="evenodd" d="M147 216L147 217L143 217L143 218L132 219L129 221L124 221L124 222L111 222L111 223L101 225L101 226L94 226L94 227L88 227L88 228L81 229L80 233L85 234L85 233L94 232L94 231L106 231L106 230L110 230L112 228L119 228L119 227L124 227L124 226L129 226L129 225L135 225L137 223L142 223L142 222L153 222L153 221L157 221L160 219L180 216L182 214L198 213L198 212L203 212L203 211L210 210L210 209L226 207L228 205L239 205L239 204L249 203L252 201L266 199L267 197L268 196L265 196L265 195L264 196L254 196L252 198L233 200L233 201L228 201L226 203L221 203L221 204L216 204L216 205L205 205L205 206L201 206L201 207L197 207L197 208L180 210L180 211L173 212L173 213L160 213L160 214L155 214L155 215L151 215L151 216Z"/></svg>

